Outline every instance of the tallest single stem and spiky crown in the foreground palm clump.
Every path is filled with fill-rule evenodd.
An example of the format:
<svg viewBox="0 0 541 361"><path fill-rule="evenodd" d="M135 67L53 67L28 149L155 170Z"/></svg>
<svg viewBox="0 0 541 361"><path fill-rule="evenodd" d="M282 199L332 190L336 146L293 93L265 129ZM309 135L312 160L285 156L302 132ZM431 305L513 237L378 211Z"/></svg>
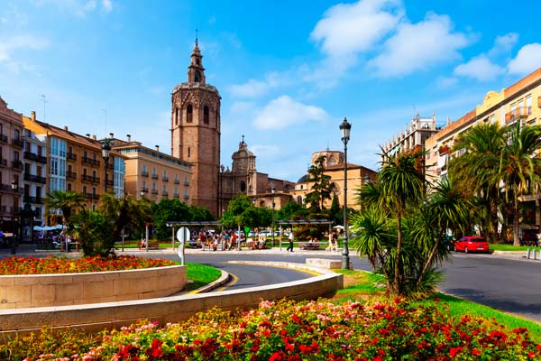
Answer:
<svg viewBox="0 0 541 361"><path fill-rule="evenodd" d="M425 174L418 160L422 152L386 154L379 174L381 202L396 220L397 247L394 266L394 281L391 294L399 295L401 289L400 269L402 252L402 218L410 203L417 203L425 193Z"/></svg>

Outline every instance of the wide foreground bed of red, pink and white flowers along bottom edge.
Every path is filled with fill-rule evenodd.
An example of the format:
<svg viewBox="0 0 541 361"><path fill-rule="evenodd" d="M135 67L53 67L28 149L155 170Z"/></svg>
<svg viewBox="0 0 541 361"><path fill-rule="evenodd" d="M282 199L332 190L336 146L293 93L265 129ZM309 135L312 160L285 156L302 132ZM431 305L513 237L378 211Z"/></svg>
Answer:
<svg viewBox="0 0 541 361"><path fill-rule="evenodd" d="M13 352L13 353L11 353ZM0 348L33 360L527 360L527 329L451 318L445 305L262 301L232 315L211 310L181 324L141 323L88 337L45 333ZM66 357L66 358L60 358Z"/></svg>

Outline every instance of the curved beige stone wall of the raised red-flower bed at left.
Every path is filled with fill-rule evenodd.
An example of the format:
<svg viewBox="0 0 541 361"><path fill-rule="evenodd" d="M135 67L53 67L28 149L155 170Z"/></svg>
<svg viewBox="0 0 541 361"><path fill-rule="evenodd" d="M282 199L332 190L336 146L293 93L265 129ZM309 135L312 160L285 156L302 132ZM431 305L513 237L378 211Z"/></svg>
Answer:
<svg viewBox="0 0 541 361"><path fill-rule="evenodd" d="M186 287L186 266L0 276L0 310L166 297Z"/></svg>

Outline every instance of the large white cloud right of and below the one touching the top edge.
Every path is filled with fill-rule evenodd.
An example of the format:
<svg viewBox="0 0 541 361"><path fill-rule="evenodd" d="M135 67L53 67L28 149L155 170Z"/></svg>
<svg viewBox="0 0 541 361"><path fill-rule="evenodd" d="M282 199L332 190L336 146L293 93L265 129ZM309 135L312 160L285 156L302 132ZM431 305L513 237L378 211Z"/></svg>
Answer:
<svg viewBox="0 0 541 361"><path fill-rule="evenodd" d="M385 42L385 51L369 66L382 77L407 75L459 58L458 50L468 44L466 35L452 32L447 15L430 13L423 22L400 24L398 32Z"/></svg>

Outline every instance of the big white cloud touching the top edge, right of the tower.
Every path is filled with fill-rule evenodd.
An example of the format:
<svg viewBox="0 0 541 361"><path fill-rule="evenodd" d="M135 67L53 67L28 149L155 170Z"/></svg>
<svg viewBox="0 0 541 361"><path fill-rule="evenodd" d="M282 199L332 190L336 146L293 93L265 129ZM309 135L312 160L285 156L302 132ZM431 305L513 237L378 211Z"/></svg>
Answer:
<svg viewBox="0 0 541 361"><path fill-rule="evenodd" d="M322 43L330 57L369 50L392 30L402 18L398 0L360 0L329 8L316 23L310 38Z"/></svg>

